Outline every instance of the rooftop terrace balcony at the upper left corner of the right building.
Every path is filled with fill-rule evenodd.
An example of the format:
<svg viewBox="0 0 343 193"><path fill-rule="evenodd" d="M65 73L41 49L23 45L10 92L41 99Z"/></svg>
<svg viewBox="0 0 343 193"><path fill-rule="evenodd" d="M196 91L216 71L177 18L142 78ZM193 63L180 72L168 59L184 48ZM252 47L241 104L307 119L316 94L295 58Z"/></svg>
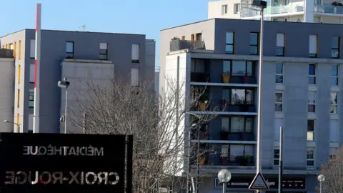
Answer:
<svg viewBox="0 0 343 193"><path fill-rule="evenodd" d="M170 41L170 51L178 51L182 49L205 49L204 41L190 41L175 39Z"/></svg>

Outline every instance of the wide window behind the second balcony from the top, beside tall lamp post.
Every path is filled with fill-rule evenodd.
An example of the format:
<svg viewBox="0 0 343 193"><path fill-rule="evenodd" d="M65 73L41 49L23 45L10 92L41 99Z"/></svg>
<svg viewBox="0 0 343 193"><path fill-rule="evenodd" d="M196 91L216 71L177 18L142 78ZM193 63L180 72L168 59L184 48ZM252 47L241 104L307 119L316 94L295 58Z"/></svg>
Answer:
<svg viewBox="0 0 343 193"><path fill-rule="evenodd" d="M254 91L249 89L231 89L231 104L254 104Z"/></svg>

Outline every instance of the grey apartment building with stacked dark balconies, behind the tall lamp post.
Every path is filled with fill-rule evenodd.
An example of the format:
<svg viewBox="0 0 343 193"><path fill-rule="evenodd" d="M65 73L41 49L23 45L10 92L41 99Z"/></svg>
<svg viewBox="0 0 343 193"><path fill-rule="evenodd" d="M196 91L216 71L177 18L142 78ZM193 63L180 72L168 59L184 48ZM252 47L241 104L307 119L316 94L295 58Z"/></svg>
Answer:
<svg viewBox="0 0 343 193"><path fill-rule="evenodd" d="M253 20L209 19L161 30L160 89L164 76L185 81L187 106L192 88L202 86L206 99L189 113L218 115L199 134L200 147L211 144L212 152L191 164L206 175L199 192L222 192L220 169L232 172L227 192L249 192L256 174L259 27ZM343 142L343 26L266 21L264 31L262 173L277 192L284 127L284 192L312 193L319 166Z"/></svg>

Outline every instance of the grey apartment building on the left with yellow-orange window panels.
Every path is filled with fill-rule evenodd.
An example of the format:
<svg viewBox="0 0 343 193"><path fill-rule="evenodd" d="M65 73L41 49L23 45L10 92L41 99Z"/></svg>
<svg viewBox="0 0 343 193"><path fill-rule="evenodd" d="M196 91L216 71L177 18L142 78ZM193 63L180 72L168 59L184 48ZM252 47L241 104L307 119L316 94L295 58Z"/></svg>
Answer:
<svg viewBox="0 0 343 193"><path fill-rule="evenodd" d="M11 122L20 124L14 132L31 132L35 30L24 29L2 36L0 46L14 52ZM134 86L139 84L139 79L154 82L154 51L155 41L141 34L42 30L39 132L56 133L64 129L59 120L64 114L65 89L61 91L58 81L64 77L70 81L69 104L75 102L75 89L84 86L80 81L89 76L95 79L116 76L128 83L131 81ZM4 75L8 74L1 71L1 76Z"/></svg>

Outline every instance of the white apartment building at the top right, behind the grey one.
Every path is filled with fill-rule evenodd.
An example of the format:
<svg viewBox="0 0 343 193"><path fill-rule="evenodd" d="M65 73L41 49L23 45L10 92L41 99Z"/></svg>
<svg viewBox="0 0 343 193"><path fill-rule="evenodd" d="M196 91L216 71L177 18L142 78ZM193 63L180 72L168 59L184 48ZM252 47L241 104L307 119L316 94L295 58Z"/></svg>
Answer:
<svg viewBox="0 0 343 193"><path fill-rule="evenodd" d="M267 0L264 16L269 21L343 24L342 0ZM208 4L208 19L259 19L249 0L219 0Z"/></svg>

